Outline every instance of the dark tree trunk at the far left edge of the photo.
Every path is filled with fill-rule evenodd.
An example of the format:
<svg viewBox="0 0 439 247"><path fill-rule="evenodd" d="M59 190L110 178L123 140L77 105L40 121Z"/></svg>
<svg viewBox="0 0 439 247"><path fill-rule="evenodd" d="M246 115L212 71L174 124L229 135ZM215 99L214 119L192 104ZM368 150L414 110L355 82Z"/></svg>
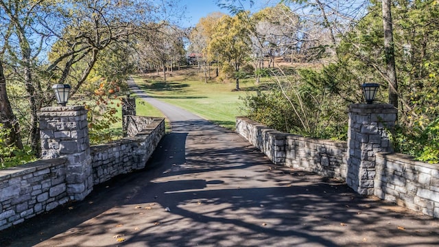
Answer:
<svg viewBox="0 0 439 247"><path fill-rule="evenodd" d="M3 74L3 64L0 61L0 122L3 128L10 130L5 137L5 145L14 145L16 148L23 149L20 137L19 121L16 120L6 92L6 78Z"/></svg>

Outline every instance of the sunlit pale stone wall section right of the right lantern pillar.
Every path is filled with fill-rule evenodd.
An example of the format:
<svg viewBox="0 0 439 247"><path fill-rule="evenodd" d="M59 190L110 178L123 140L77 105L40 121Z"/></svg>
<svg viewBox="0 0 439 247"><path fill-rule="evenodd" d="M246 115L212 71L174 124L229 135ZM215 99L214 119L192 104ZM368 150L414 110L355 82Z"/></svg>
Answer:
<svg viewBox="0 0 439 247"><path fill-rule="evenodd" d="M405 154L376 155L375 196L439 217L439 166Z"/></svg>

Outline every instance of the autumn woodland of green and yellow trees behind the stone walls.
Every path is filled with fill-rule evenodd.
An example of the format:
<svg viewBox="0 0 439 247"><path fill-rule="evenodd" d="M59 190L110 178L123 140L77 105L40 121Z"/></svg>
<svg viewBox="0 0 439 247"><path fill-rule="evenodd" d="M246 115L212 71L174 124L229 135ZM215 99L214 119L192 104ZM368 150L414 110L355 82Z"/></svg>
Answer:
<svg viewBox="0 0 439 247"><path fill-rule="evenodd" d="M1 162L38 156L36 113L55 104L51 85L70 84L99 130L117 121L112 99L130 73L166 81L188 54L206 82L239 90L254 78L261 89L244 99L254 120L312 137L346 138L346 106L377 82L379 102L399 110L396 149L438 162L438 1L289 0L258 12L241 3L253 1L218 1L228 14L182 28L174 0L0 0Z"/></svg>

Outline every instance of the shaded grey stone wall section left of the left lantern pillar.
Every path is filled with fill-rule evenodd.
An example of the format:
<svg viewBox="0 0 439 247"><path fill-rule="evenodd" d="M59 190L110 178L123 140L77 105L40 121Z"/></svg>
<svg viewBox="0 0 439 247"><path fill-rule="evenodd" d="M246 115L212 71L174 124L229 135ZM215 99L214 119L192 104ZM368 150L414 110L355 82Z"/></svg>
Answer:
<svg viewBox="0 0 439 247"><path fill-rule="evenodd" d="M65 158L0 170L0 230L69 201Z"/></svg>

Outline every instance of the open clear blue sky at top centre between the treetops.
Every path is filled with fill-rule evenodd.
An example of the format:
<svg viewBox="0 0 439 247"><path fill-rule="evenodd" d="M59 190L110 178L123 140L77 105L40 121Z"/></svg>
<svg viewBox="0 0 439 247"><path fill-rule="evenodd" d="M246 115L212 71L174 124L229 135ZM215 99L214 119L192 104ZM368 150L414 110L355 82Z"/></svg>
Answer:
<svg viewBox="0 0 439 247"><path fill-rule="evenodd" d="M254 6L250 9L250 5L247 1L242 1L246 10L255 12L268 4L273 4L274 0L255 0ZM195 26L200 18L207 16L212 12L223 12L226 14L228 10L223 10L216 5L215 0L180 0L180 5L186 5L186 16L189 21L182 21L185 27Z"/></svg>

